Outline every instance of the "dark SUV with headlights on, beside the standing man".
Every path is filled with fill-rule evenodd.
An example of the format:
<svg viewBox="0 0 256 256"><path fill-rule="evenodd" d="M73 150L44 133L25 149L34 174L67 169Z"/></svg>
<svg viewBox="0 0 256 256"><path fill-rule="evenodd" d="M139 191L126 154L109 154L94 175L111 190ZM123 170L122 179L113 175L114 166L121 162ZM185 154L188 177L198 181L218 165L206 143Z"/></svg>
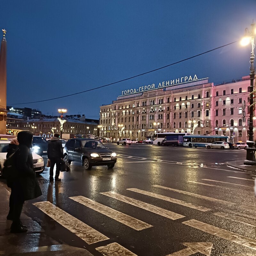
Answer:
<svg viewBox="0 0 256 256"><path fill-rule="evenodd" d="M64 161L82 162L85 170L92 166L108 165L108 169L115 166L116 153L106 148L99 140L74 138L69 139L64 147Z"/></svg>

